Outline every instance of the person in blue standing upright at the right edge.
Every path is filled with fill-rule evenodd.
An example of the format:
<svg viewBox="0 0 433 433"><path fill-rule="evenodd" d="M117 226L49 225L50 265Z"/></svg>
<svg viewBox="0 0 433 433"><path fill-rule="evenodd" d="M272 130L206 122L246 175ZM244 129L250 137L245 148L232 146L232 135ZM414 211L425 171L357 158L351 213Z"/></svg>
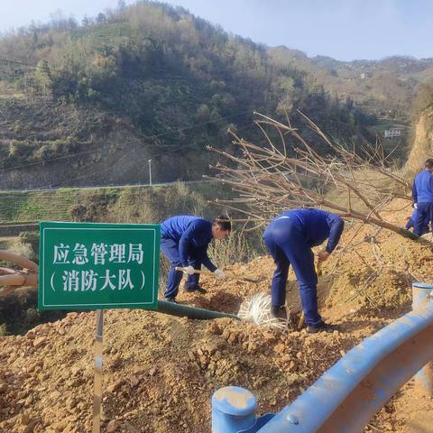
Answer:
<svg viewBox="0 0 433 433"><path fill-rule="evenodd" d="M413 233L419 236L423 234L425 222L431 224L433 221L433 159L424 162L424 169L417 174L412 185L412 198L417 208Z"/></svg>

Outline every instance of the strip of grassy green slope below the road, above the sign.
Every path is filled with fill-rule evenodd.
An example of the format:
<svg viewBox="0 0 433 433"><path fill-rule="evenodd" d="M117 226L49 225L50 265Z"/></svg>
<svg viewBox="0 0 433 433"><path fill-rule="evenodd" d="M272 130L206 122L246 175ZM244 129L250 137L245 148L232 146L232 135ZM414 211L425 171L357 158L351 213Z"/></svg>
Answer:
<svg viewBox="0 0 433 433"><path fill-rule="evenodd" d="M52 189L0 192L0 223L89 221L155 223L176 214L214 217L221 208L208 203L229 197L229 189L214 183L182 182L161 187Z"/></svg>

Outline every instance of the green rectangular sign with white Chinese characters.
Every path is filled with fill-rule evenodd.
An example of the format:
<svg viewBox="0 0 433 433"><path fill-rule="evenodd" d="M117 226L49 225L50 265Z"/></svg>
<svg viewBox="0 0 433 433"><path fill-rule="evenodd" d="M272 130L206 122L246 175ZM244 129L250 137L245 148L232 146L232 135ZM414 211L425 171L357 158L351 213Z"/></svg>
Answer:
<svg viewBox="0 0 433 433"><path fill-rule="evenodd" d="M157 309L160 226L40 228L38 309Z"/></svg>

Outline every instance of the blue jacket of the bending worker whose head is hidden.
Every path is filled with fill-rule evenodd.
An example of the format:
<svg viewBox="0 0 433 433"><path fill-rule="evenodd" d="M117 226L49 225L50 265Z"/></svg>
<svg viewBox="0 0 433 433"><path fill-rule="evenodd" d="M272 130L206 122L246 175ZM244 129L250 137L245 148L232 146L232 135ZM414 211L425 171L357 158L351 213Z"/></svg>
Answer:
<svg viewBox="0 0 433 433"><path fill-rule="evenodd" d="M309 247L323 244L327 239L327 252L332 253L340 240L345 223L341 217L316 208L292 209L283 212L281 218L298 220Z"/></svg>

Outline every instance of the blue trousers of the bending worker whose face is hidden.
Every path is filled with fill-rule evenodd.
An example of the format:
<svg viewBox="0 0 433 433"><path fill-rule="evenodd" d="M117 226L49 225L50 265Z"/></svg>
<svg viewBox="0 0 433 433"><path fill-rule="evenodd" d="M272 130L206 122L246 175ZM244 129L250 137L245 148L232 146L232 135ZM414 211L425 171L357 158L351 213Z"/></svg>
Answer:
<svg viewBox="0 0 433 433"><path fill-rule="evenodd" d="M286 302L286 281L291 263L299 284L305 323L319 323L318 275L314 269L314 254L300 222L291 218L276 219L266 228L263 240L277 265L272 277L272 306L281 307Z"/></svg>

